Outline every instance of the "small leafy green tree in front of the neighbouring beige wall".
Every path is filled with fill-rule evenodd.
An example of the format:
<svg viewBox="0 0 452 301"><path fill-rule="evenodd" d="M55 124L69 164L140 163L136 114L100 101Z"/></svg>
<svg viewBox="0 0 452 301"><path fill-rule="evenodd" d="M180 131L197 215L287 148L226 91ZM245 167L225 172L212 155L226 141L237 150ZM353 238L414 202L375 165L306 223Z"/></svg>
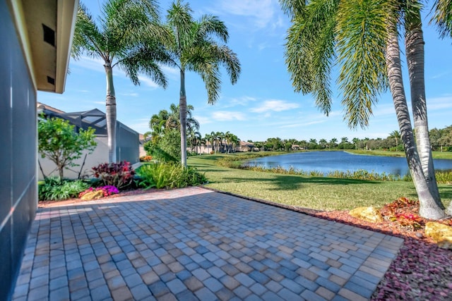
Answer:
<svg viewBox="0 0 452 301"><path fill-rule="evenodd" d="M91 154L97 143L94 141L95 129L80 129L61 118L43 119L37 124L37 149L42 158L47 157L57 164L59 178L63 180L64 168L78 166L73 161L80 159L83 150ZM45 175L44 175L45 176Z"/></svg>

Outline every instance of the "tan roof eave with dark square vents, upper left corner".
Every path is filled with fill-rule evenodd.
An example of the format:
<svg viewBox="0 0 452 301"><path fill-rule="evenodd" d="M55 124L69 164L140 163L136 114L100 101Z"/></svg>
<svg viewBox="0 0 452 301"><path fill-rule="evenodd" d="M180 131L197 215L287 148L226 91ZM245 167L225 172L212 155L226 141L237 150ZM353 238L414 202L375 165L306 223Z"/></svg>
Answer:
<svg viewBox="0 0 452 301"><path fill-rule="evenodd" d="M7 2L36 90L63 93L71 56L78 0L7 0ZM51 42L45 37L50 37Z"/></svg>

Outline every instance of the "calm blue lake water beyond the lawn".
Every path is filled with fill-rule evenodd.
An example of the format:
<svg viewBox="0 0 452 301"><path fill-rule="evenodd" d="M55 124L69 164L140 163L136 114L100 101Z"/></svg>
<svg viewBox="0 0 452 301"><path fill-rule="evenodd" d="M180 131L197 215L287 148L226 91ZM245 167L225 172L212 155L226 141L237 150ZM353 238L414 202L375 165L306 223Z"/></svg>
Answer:
<svg viewBox="0 0 452 301"><path fill-rule="evenodd" d="M296 152L264 156L247 161L249 166L295 168L302 171L365 171L405 176L409 173L405 157L365 156L347 152ZM435 159L436 171L452 171L452 160Z"/></svg>

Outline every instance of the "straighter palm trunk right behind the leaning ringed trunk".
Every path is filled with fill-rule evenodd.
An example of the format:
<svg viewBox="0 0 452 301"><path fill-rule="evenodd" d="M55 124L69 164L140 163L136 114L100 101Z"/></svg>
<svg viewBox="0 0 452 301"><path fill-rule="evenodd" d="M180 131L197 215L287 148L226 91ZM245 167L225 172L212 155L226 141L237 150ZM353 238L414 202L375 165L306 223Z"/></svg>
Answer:
<svg viewBox="0 0 452 301"><path fill-rule="evenodd" d="M436 200L436 204L444 209L439 196L433 165L432 147L429 139L429 125L427 122L427 102L424 82L424 35L420 12L411 16L411 22L405 30L405 45L410 77L412 118L415 123L416 144L420 155L422 170L427 185Z"/></svg>

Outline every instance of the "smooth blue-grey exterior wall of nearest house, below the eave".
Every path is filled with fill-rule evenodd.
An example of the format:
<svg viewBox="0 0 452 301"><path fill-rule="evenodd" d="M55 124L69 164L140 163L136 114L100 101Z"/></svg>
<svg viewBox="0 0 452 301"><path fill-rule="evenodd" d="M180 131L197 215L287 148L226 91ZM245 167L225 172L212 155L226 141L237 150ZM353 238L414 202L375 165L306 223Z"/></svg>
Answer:
<svg viewBox="0 0 452 301"><path fill-rule="evenodd" d="M37 208L36 90L0 1L0 300L9 300Z"/></svg>

